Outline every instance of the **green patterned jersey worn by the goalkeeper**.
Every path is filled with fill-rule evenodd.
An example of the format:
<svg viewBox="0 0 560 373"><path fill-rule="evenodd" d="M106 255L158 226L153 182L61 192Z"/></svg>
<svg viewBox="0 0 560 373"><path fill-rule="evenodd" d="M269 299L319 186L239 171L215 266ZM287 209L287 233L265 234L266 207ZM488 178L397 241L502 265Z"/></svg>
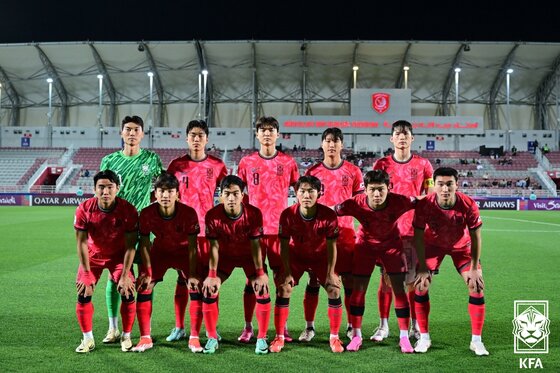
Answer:
<svg viewBox="0 0 560 373"><path fill-rule="evenodd" d="M134 156L126 156L119 150L103 157L100 170L111 170L119 176L121 185L117 196L140 212L150 204L152 184L163 166L159 155L151 150L140 149Z"/></svg>

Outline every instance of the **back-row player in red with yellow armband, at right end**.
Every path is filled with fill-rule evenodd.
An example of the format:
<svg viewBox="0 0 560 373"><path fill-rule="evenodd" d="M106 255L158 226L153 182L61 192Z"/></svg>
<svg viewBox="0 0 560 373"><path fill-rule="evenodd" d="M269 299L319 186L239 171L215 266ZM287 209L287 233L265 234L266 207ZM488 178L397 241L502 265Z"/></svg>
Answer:
<svg viewBox="0 0 560 373"><path fill-rule="evenodd" d="M373 165L374 170L383 170L389 174L391 180L389 190L392 193L408 197L419 197L432 192L434 182L432 179L433 167L430 161L412 154L412 142L414 141L412 124L405 120L398 120L393 123L389 140L395 147L395 151L392 155L378 159ZM405 282L408 285L408 302L411 310L410 334L411 337L418 339L418 325L414 312L414 287L412 286L416 274L416 253L412 246L412 237L414 236L413 217L414 211L405 213L399 219L398 225L408 266ZM382 274L377 292L380 323L370 338L376 342L381 342L389 336L389 313L393 298L393 291L389 282L387 276Z"/></svg>

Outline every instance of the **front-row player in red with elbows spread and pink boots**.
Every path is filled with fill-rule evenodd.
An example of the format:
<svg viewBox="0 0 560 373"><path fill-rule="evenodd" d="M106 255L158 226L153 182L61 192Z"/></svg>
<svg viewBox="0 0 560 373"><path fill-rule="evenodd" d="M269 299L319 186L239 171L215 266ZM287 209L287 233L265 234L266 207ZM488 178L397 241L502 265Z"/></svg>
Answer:
<svg viewBox="0 0 560 373"><path fill-rule="evenodd" d="M369 171L364 176L365 194L359 194L335 206L338 215L350 215L360 222L354 251L352 274L354 289L350 297L353 327L347 351L358 351L362 345L362 317L365 295L375 264L379 261L389 275L395 294L395 313L400 330L399 346L403 353L414 352L408 336L410 307L404 287L406 262L399 237L397 221L414 209L415 199L389 192L389 174L383 170Z"/></svg>

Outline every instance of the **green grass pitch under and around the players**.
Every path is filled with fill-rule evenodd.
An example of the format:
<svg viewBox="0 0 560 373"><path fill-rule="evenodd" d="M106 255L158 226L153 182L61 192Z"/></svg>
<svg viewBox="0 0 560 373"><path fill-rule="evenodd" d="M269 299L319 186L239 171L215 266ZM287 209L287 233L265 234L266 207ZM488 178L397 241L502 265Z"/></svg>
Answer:
<svg viewBox="0 0 560 373"><path fill-rule="evenodd" d="M254 344L237 342L243 326L244 279L239 269L222 287L219 331L224 340L215 355L192 354L185 341L165 341L174 325L172 271L155 290L152 350L122 353L120 345L101 343L107 330L105 272L93 298L97 348L77 354L74 349L81 332L75 316L78 259L73 213L71 207L0 207L0 372L503 372L519 369L519 359L527 357L540 358L545 370L560 370L560 214L556 212L482 212L487 304L483 339L491 354L488 357L476 357L468 349L467 290L449 258L430 291L433 345L427 354L400 353L394 313L390 319L393 334L385 343L367 339L378 323L376 270L367 295L365 340L359 352L330 352L323 292L313 342L292 343L280 354L257 356ZM304 326L304 287L296 288L291 301L289 327L294 337ZM514 300L549 301L548 354L514 354ZM272 336L271 317L269 339ZM135 324L134 342L138 337ZM348 342L346 337L343 341Z"/></svg>

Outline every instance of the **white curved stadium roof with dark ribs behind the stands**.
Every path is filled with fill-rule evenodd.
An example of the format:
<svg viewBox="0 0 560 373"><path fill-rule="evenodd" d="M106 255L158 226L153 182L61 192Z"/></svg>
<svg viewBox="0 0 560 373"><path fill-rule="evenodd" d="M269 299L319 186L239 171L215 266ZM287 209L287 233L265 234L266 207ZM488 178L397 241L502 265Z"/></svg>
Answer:
<svg viewBox="0 0 560 373"><path fill-rule="evenodd" d="M479 115L505 128L558 128L560 43L434 41L145 41L0 45L0 124L44 125L53 82L55 126L146 116L154 72L155 126L182 127L199 112L207 69L209 123L250 127L260 115L348 115L357 88L408 88L413 115ZM455 67L459 112L455 113Z"/></svg>

